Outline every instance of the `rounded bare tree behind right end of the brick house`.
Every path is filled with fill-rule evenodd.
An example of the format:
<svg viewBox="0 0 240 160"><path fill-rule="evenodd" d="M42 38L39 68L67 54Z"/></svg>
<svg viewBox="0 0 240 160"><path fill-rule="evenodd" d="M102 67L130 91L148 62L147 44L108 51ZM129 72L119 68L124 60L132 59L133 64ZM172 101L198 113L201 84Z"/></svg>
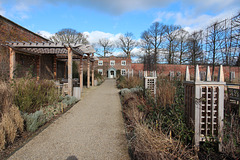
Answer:
<svg viewBox="0 0 240 160"><path fill-rule="evenodd" d="M122 49L128 57L131 55L131 51L137 46L136 40L133 39L133 34L127 32L119 37L118 47Z"/></svg>

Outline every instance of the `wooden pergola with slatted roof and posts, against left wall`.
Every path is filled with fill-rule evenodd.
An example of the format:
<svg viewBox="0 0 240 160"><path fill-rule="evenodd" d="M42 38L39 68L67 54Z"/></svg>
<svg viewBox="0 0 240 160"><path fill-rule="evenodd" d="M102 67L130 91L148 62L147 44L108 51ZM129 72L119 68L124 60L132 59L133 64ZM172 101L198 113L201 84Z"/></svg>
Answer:
<svg viewBox="0 0 240 160"><path fill-rule="evenodd" d="M57 79L57 59L65 59L68 62L68 95L72 96L72 62L73 59L80 61L79 79L80 88L83 87L83 59L87 59L87 87L90 87L90 62L92 62L92 86L94 85L94 53L96 52L91 45L65 44L53 42L8 42L6 44L10 53L10 78L14 77L16 67L16 52L27 53L38 56L37 59L37 79L41 73L41 55L52 54L54 56L53 75Z"/></svg>

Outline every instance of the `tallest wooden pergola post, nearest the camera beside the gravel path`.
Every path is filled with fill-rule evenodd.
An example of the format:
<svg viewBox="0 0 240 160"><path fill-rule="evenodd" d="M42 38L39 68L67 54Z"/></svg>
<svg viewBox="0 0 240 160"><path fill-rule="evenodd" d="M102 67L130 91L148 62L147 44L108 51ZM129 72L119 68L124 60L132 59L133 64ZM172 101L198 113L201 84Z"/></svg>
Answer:
<svg viewBox="0 0 240 160"><path fill-rule="evenodd" d="M72 49L68 49L68 95L72 96Z"/></svg>

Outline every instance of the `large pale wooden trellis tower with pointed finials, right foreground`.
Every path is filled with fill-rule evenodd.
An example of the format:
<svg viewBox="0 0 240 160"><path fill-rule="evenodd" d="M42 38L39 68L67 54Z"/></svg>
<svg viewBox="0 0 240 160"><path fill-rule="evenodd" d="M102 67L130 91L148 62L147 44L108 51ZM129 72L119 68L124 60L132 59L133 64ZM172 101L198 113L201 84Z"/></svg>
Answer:
<svg viewBox="0 0 240 160"><path fill-rule="evenodd" d="M196 66L195 80L190 80L189 69L186 69L185 113L187 123L194 129L195 147L201 141L218 140L222 150L224 118L224 74L220 66L218 81L211 81L210 68L207 68L206 81L200 80L199 67Z"/></svg>

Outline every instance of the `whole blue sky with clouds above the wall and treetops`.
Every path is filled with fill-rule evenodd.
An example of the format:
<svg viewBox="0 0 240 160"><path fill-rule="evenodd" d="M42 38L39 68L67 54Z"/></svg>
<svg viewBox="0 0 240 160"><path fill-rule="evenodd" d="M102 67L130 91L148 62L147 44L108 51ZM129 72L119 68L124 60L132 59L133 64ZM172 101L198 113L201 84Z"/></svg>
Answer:
<svg viewBox="0 0 240 160"><path fill-rule="evenodd" d="M0 0L1 15L33 32L73 28L92 43L126 32L139 39L155 21L197 30L239 11L240 0Z"/></svg>

